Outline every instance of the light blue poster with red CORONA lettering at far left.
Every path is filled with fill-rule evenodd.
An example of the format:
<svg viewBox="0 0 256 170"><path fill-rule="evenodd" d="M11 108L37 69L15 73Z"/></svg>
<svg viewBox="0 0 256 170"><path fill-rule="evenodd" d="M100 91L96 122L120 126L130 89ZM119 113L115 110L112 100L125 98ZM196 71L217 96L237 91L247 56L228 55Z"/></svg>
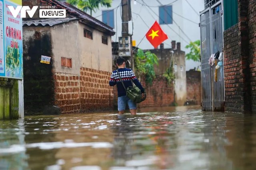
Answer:
<svg viewBox="0 0 256 170"><path fill-rule="evenodd" d="M22 0L4 0L1 2L4 2L2 17L4 24L3 27L2 25L0 27L3 28L4 34L3 45L0 42L0 61L3 63L0 65L0 76L23 79L22 18L20 13L14 18L8 8L8 6L14 6L14 8L22 6ZM4 57L2 57L2 50Z"/></svg>

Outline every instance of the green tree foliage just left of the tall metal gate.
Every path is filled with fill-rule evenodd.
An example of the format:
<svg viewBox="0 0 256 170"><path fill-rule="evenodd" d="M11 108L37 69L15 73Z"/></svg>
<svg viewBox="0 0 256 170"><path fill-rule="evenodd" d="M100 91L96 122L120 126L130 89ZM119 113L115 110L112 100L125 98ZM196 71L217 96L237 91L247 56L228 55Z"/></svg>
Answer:
<svg viewBox="0 0 256 170"><path fill-rule="evenodd" d="M187 60L200 61L200 40L190 42L185 48L190 49L190 53L186 54Z"/></svg>

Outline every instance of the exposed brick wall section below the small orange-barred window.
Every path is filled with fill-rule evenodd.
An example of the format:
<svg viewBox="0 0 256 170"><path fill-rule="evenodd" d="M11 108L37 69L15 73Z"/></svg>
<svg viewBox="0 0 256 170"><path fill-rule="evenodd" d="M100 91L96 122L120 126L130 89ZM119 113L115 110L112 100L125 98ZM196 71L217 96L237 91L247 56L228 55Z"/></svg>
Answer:
<svg viewBox="0 0 256 170"><path fill-rule="evenodd" d="M74 74L54 73L55 105L61 113L78 113L80 111L79 76Z"/></svg>

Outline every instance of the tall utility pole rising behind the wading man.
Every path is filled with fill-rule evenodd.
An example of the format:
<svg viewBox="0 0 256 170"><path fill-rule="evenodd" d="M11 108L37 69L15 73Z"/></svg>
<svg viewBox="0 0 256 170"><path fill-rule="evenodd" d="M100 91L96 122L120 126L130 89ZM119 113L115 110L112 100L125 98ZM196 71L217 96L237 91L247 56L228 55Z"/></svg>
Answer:
<svg viewBox="0 0 256 170"><path fill-rule="evenodd" d="M125 37L130 37L130 54L129 56L126 56L126 57L128 57L128 60L130 58L130 66L131 66L131 69L134 70L134 60L133 60L133 52L132 52L132 35L129 34L129 25L128 25L128 21L130 21L132 18L131 0L121 0L121 4L122 4L122 44L123 44L123 48L125 48L125 45L124 45Z"/></svg>

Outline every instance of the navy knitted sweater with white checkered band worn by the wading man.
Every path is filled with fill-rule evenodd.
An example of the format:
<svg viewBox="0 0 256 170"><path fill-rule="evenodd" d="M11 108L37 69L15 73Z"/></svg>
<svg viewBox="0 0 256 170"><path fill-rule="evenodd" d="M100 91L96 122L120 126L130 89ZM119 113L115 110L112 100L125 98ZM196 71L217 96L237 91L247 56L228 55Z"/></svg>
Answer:
<svg viewBox="0 0 256 170"><path fill-rule="evenodd" d="M140 84L140 82L138 81L134 72L131 69L118 68L118 72L120 73L120 76L121 76L121 78L124 82L124 86L126 87L126 89L129 86L132 86L132 81L133 81L134 84L138 88L140 88L141 92L144 93L144 88L142 87L142 85ZM111 78L110 78L110 81L109 81L109 85L110 86L114 86L114 85L117 86L118 97L126 96L126 89L124 89L124 86L122 85L122 82L120 81L120 78L119 78L118 73L116 72L116 70L114 72L112 72L112 75L111 75Z"/></svg>

